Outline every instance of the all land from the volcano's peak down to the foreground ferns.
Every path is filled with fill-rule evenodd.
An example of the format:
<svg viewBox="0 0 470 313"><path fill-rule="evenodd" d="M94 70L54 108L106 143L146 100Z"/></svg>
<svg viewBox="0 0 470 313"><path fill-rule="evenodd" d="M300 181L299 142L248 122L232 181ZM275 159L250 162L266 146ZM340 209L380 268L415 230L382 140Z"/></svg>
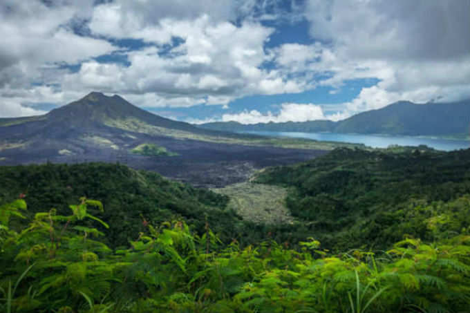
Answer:
<svg viewBox="0 0 470 313"><path fill-rule="evenodd" d="M468 149L199 129L101 93L0 131L0 307L468 307Z"/></svg>

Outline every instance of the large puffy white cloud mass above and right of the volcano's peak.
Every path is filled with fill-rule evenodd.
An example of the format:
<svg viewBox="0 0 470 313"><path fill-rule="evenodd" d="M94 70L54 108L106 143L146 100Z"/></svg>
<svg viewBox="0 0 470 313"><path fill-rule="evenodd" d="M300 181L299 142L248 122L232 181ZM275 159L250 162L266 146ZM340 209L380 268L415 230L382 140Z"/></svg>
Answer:
<svg viewBox="0 0 470 313"><path fill-rule="evenodd" d="M129 66L84 63L79 72L66 75L64 86L155 93L168 100L147 101L146 106L227 104L244 95L297 93L307 86L282 71L263 69L263 62L270 59L264 44L274 29L261 23L245 21L236 26L202 15L191 21L162 19L152 27L156 32L148 32L151 35L145 40L169 44L177 37L183 42L169 50L157 45L129 51ZM185 101L178 103L178 99Z"/></svg>

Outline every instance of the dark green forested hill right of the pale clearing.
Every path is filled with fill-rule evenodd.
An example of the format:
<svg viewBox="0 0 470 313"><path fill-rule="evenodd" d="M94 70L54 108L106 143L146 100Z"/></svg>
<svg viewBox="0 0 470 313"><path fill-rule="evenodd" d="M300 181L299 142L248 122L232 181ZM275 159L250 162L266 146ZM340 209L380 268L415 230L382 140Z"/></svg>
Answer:
<svg viewBox="0 0 470 313"><path fill-rule="evenodd" d="M268 169L256 181L290 187L286 204L298 231L335 251L386 249L404 236L434 240L428 225L436 216L445 225L442 236L470 225L464 196L470 193L470 150L337 149Z"/></svg>

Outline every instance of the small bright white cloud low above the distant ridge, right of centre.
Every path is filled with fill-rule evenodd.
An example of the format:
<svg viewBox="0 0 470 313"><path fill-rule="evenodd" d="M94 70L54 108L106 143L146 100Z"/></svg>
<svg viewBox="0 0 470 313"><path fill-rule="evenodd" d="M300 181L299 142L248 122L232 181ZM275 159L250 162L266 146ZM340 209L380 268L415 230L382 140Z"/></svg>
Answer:
<svg viewBox="0 0 470 313"><path fill-rule="evenodd" d="M271 112L263 114L259 111L252 110L222 115L222 122L234 121L241 124L306 122L310 120L326 120L321 106L315 104L284 103L281 104L281 110L278 114Z"/></svg>

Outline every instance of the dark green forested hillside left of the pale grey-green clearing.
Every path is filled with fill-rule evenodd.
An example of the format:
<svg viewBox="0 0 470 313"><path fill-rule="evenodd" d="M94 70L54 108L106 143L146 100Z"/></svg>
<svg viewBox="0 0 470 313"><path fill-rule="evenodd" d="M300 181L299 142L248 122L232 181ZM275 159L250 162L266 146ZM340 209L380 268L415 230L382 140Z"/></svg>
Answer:
<svg viewBox="0 0 470 313"><path fill-rule="evenodd" d="M0 167L0 204L26 195L28 214L44 209L68 213L80 197L99 199L106 210L97 216L112 227L100 229L112 247L127 245L144 229L142 222L159 224L182 218L203 233L205 222L225 242L243 234L241 217L225 209L228 198L207 189L172 182L157 173L134 171L118 164L44 164ZM243 239L240 239L243 242Z"/></svg>

